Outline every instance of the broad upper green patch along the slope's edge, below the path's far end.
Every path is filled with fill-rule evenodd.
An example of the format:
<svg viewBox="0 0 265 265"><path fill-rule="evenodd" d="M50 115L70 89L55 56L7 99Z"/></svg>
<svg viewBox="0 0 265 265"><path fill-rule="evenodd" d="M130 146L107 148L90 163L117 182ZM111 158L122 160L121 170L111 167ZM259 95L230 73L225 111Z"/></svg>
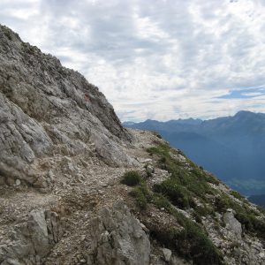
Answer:
<svg viewBox="0 0 265 265"><path fill-rule="evenodd" d="M159 143L157 147L148 148L148 153L158 155L160 168L168 170L171 174L170 179L155 185L155 192L162 193L179 208L194 208L193 198L195 196L201 198L202 201L207 201L206 194L215 193L208 183L218 184L219 181L188 159L186 162L175 159L174 155L183 154L170 149L168 144ZM190 166L190 170L186 169L186 164Z"/></svg>

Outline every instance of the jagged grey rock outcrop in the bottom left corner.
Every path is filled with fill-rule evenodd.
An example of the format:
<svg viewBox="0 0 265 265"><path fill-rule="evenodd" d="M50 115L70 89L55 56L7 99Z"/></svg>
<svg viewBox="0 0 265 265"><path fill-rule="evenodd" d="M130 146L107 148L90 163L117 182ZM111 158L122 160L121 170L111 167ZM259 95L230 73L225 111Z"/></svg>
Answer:
<svg viewBox="0 0 265 265"><path fill-rule="evenodd" d="M33 210L26 223L15 226L13 239L1 242L0 263L42 264L42 258L58 242L62 231L57 214Z"/></svg>

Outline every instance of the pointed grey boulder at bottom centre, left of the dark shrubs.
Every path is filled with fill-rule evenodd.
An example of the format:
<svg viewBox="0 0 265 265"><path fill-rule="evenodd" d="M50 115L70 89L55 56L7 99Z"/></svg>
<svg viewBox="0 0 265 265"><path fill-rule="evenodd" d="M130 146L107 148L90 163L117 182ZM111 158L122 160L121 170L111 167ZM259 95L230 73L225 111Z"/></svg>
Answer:
<svg viewBox="0 0 265 265"><path fill-rule="evenodd" d="M88 264L148 265L150 242L123 202L103 208L93 223Z"/></svg>

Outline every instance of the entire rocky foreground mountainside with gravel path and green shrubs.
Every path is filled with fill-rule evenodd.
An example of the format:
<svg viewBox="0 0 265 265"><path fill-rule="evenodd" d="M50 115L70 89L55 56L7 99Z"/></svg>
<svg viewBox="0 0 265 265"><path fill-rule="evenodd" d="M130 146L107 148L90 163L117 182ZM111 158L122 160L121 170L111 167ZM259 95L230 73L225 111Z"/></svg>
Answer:
<svg viewBox="0 0 265 265"><path fill-rule="evenodd" d="M264 242L261 208L0 26L1 265L261 265Z"/></svg>

